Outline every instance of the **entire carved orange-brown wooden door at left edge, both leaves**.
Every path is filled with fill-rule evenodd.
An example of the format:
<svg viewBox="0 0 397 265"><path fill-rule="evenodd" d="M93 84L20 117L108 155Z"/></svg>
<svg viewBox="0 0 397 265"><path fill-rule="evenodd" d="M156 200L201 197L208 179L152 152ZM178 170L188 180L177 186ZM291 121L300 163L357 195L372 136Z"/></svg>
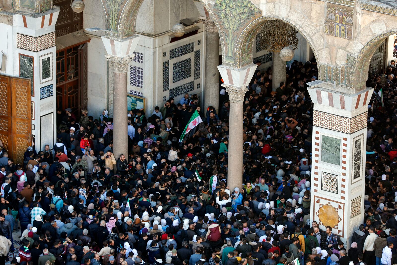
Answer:
<svg viewBox="0 0 397 265"><path fill-rule="evenodd" d="M31 145L31 79L0 75L0 140L15 163Z"/></svg>

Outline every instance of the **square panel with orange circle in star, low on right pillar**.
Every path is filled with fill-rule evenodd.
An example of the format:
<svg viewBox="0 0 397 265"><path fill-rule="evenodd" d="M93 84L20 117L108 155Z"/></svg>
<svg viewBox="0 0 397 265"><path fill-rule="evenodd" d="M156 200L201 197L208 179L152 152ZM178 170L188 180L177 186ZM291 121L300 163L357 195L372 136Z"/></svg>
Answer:
<svg viewBox="0 0 397 265"><path fill-rule="evenodd" d="M331 226L333 234L344 236L345 204L314 195L314 220Z"/></svg>

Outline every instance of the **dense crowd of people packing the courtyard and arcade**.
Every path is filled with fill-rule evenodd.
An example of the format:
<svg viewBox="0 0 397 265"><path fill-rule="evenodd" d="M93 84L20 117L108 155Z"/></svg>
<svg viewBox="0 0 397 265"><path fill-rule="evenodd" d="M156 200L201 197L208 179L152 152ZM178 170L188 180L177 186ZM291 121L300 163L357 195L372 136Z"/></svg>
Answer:
<svg viewBox="0 0 397 265"><path fill-rule="evenodd" d="M0 265L391 265L397 263L397 68L371 75L365 218L346 246L310 219L313 60L294 62L272 91L257 70L244 103L243 188L227 184L229 101L202 109L170 98L128 114L128 154L113 153L104 110L58 110L54 150L23 164L0 153ZM384 106L375 95L382 88ZM179 145L197 110L205 127ZM150 112L149 112L150 113ZM20 238L13 238L14 230ZM15 233L14 233L15 234ZM348 249L348 251L347 251Z"/></svg>

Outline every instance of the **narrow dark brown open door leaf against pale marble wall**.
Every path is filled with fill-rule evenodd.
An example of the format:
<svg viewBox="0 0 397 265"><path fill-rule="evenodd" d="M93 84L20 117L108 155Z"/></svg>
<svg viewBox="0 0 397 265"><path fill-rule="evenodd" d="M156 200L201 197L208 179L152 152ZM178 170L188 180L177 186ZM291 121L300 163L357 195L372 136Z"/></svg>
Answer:
<svg viewBox="0 0 397 265"><path fill-rule="evenodd" d="M87 83L87 56L88 56L87 43L81 44L79 47L79 87L80 87L80 108L86 110L88 105L88 83Z"/></svg>

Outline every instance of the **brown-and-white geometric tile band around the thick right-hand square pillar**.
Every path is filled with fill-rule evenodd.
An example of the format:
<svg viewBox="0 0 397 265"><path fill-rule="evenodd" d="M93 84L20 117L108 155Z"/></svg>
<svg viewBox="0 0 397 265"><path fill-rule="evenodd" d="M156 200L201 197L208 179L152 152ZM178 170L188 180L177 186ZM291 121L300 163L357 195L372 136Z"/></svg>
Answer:
<svg viewBox="0 0 397 265"><path fill-rule="evenodd" d="M318 110L314 110L313 112L313 126L349 134L367 127L367 119L367 112L353 118L337 116L326 112L320 112Z"/></svg>

